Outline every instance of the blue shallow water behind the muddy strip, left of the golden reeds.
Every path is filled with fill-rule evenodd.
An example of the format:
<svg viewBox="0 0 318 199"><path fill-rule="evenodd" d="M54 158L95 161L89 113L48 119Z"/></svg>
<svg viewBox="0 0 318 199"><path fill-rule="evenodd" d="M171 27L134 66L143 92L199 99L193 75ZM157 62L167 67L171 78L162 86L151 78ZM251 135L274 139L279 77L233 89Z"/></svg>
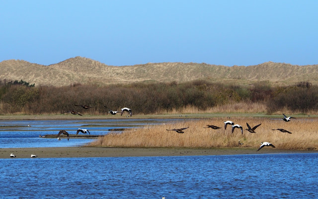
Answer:
<svg viewBox="0 0 318 199"><path fill-rule="evenodd" d="M95 119L95 120L1 120L0 148L71 147L82 146L91 139L40 138L39 135L58 134L66 130L76 134L79 128L88 129L91 135L107 134L109 129L136 128L146 124L174 122L177 119ZM28 126L30 125L30 126ZM81 133L80 133L81 134Z"/></svg>

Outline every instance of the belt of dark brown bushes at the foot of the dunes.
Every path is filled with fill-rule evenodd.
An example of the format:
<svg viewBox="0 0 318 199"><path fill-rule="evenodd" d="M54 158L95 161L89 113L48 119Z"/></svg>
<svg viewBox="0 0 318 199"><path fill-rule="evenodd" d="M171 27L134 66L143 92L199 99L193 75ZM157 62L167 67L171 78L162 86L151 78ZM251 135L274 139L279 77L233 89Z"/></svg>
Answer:
<svg viewBox="0 0 318 199"><path fill-rule="evenodd" d="M93 108L86 114L99 115L130 107L134 114L244 112L253 104L265 104L254 112L274 113L288 110L308 113L318 110L318 87L309 82L294 86L272 87L266 82L250 86L233 86L197 80L186 83L134 83L106 86L74 84L64 87L29 86L0 81L0 114L60 114L63 111L83 111L75 104ZM226 107L227 110L213 110ZM255 106L256 107L256 106ZM260 107L258 105L257 107ZM194 111L188 109L194 109ZM242 109L242 110L239 110ZM253 112L249 111L249 112Z"/></svg>

